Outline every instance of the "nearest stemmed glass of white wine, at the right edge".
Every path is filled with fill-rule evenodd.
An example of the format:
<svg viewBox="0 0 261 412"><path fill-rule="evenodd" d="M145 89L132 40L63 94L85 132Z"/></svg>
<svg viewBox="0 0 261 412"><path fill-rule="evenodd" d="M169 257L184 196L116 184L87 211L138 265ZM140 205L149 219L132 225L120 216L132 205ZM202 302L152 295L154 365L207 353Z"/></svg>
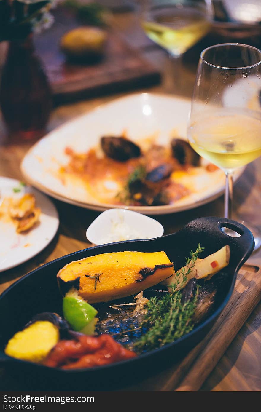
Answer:
<svg viewBox="0 0 261 412"><path fill-rule="evenodd" d="M260 90L259 49L226 43L201 53L188 141L196 152L226 174L225 218L233 218L233 172L261 155ZM255 249L259 248L259 230L245 221L244 224L254 235Z"/></svg>

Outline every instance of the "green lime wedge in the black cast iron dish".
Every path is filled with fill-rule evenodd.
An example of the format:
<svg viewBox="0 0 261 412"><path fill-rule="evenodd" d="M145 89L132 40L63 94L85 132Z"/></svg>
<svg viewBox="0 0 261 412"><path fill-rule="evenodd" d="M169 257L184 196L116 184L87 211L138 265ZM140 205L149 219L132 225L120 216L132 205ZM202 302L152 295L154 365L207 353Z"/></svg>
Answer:
<svg viewBox="0 0 261 412"><path fill-rule="evenodd" d="M63 317L73 330L81 332L98 312L84 300L72 296L63 298Z"/></svg>

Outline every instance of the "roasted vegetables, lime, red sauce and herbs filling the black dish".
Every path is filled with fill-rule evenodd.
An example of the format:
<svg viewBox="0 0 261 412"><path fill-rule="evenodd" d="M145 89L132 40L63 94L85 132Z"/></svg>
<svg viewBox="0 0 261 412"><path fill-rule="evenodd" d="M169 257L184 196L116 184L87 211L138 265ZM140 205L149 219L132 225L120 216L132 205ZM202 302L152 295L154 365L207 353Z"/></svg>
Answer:
<svg viewBox="0 0 261 412"><path fill-rule="evenodd" d="M115 252L71 262L57 274L62 316L44 312L9 339L5 353L62 369L134 358L174 342L223 298L230 248L175 272L164 251ZM119 300L120 299L120 300Z"/></svg>

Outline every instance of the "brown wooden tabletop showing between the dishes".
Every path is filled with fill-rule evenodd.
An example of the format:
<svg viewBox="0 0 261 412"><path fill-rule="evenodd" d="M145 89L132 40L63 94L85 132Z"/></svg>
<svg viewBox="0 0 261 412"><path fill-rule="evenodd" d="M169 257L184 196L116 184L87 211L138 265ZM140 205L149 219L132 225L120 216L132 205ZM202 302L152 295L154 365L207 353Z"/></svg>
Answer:
<svg viewBox="0 0 261 412"><path fill-rule="evenodd" d="M117 14L115 26L120 35L132 46L138 48L141 53L162 71L162 84L150 89L140 91L150 92L174 92L190 98L195 71L200 50L213 42L211 38L202 40L188 51L183 57L181 79L177 82L177 76L167 54L150 42L139 29L136 16L132 13ZM220 39L219 39L220 40ZM220 41L219 41L220 42ZM176 82L175 82L176 81ZM175 85L174 85L175 83ZM121 96L118 94L117 97ZM60 105L52 112L48 130L63 124L82 113L86 113L97 105L111 101L115 95L103 96L86 101L78 101L67 105ZM171 107L169 108L171 112ZM31 143L8 143L3 123L0 121L0 176L7 176L21 180L19 164ZM253 225L261 229L261 159L247 166L247 169L235 185L235 211ZM64 204L54 200L60 217L60 226L54 240L35 258L28 262L1 273L0 293L10 286L19 277L30 272L36 267L59 258L62 255L76 250L87 248L88 243L85 232L89 224L96 218L98 212L88 211L76 206ZM188 221L200 216L222 216L223 197L199 208L172 215L161 215L157 219L164 226L165 234L175 232ZM257 262L261 265L261 250L249 259L249 262ZM228 350L214 368L212 374L202 386L203 391L260 391L261 390L261 303L256 307L237 337L230 344ZM0 372L0 380L5 381L6 375ZM2 378L2 379L1 379ZM149 382L134 385L125 390L157 390L158 376L151 377ZM160 375L164 379L164 373ZM5 385L4 385L5 386ZM10 388L9 388L10 389ZM19 386L12 389L19 390Z"/></svg>

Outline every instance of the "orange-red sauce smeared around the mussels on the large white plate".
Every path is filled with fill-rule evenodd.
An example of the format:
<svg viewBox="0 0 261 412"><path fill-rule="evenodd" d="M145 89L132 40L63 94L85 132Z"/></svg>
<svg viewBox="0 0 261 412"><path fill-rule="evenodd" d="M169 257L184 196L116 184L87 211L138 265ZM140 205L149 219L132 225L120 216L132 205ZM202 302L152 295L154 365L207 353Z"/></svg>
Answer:
<svg viewBox="0 0 261 412"><path fill-rule="evenodd" d="M145 166L148 172L161 164L171 164L174 170L186 171L188 168L188 165L181 166L172 157L170 150L158 145L152 145L140 157L129 159L126 162L119 162L107 156L99 157L96 148L86 153L76 153L70 147L66 147L65 153L70 160L65 167L61 168L61 179L65 174L80 178L85 182L87 191L92 197L107 204L126 204L126 200L122 200L118 195L124 190L130 173L139 165ZM103 185L105 181L115 182L115 191L107 190L107 187ZM165 187L169 204L190 193L186 187L171 179L163 179L159 185L162 188ZM139 200L137 194L128 204L142 206L143 203Z"/></svg>

